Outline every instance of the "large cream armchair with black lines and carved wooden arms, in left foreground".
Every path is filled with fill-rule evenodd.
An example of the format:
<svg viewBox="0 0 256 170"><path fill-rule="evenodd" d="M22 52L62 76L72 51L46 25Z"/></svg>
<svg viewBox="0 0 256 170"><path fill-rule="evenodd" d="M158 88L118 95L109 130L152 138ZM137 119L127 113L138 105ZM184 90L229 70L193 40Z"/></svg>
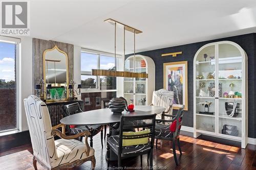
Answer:
<svg viewBox="0 0 256 170"><path fill-rule="evenodd" d="M49 111L44 102L35 95L24 99L27 122L33 148L33 165L37 169L36 162L47 169L63 169L80 165L86 161L92 162L95 167L94 149L87 142L90 132L66 136L65 125L52 127ZM62 127L62 133L57 128ZM57 135L60 139L54 140ZM75 140L85 136L84 143Z"/></svg>

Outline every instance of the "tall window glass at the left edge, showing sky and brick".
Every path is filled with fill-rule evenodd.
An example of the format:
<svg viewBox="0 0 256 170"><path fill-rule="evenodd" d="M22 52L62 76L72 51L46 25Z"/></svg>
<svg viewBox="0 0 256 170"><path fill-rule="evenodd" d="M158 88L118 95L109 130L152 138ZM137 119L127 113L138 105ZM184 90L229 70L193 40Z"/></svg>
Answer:
<svg viewBox="0 0 256 170"><path fill-rule="evenodd" d="M18 42L0 39L0 131L17 129L17 48Z"/></svg>

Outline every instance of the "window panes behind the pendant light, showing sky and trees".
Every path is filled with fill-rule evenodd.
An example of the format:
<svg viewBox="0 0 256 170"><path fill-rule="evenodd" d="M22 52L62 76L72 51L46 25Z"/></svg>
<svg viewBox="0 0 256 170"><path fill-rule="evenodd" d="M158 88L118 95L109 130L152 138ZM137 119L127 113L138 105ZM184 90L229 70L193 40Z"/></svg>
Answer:
<svg viewBox="0 0 256 170"><path fill-rule="evenodd" d="M95 51L94 51L95 52ZM118 59L117 59L118 60ZM82 88L116 90L116 77L92 76L92 69L115 69L115 58L95 52L81 52Z"/></svg>

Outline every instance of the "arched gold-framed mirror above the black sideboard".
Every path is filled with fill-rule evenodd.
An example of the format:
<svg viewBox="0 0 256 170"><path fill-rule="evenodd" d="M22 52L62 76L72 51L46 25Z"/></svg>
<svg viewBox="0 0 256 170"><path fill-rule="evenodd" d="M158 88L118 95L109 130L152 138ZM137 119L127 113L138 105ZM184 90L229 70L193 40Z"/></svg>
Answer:
<svg viewBox="0 0 256 170"><path fill-rule="evenodd" d="M44 69L44 99L46 101L61 101L69 99L69 64L67 53L57 45L47 49L43 54Z"/></svg>

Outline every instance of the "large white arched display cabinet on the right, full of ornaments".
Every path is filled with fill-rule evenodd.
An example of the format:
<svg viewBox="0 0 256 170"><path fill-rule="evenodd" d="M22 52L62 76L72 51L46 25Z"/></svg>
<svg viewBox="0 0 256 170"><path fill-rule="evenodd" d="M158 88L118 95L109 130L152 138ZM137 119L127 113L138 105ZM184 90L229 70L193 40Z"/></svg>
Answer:
<svg viewBox="0 0 256 170"><path fill-rule="evenodd" d="M247 145L247 55L220 41L202 46L194 58L194 137L201 134Z"/></svg>

